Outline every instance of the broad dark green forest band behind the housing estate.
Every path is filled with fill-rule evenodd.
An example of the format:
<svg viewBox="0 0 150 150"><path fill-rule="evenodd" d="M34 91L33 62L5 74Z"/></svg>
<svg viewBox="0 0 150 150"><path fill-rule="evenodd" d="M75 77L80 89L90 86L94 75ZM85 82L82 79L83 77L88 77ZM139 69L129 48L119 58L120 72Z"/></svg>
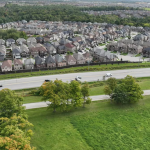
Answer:
<svg viewBox="0 0 150 150"><path fill-rule="evenodd" d="M42 20L42 21L77 21L77 22L98 22L118 25L149 26L150 17L145 18L125 18L121 19L117 15L94 16L82 12L86 9L93 10L117 10L132 9L126 7L89 7L80 8L70 5L50 5L50 6L18 6L6 4L0 9L0 23L7 23L19 20Z"/></svg>

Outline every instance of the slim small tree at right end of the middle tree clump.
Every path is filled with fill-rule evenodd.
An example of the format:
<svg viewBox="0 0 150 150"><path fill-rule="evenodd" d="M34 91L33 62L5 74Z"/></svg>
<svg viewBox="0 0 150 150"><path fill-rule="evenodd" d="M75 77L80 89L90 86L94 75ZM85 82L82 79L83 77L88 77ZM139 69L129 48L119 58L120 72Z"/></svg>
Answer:
<svg viewBox="0 0 150 150"><path fill-rule="evenodd" d="M85 104L90 104L91 99L89 98L89 85L85 82L85 84L81 87L81 93L83 95L83 107L85 107Z"/></svg>

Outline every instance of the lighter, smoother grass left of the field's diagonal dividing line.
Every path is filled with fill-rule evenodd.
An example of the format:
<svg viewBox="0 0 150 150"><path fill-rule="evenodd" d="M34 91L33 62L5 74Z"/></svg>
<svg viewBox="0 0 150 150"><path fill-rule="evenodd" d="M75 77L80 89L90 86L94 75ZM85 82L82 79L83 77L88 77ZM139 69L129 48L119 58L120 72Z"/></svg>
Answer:
<svg viewBox="0 0 150 150"><path fill-rule="evenodd" d="M92 150L65 114L53 114L47 108L27 111L34 124L31 144L37 150Z"/></svg>

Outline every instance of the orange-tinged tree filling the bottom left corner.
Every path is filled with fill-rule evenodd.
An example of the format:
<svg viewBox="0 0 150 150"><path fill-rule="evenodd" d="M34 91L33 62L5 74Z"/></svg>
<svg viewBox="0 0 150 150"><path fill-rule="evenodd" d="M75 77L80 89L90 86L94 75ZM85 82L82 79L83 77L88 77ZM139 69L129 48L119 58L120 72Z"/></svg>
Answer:
<svg viewBox="0 0 150 150"><path fill-rule="evenodd" d="M34 150L30 146L31 126L25 118L16 114L10 118L0 118L0 149Z"/></svg>

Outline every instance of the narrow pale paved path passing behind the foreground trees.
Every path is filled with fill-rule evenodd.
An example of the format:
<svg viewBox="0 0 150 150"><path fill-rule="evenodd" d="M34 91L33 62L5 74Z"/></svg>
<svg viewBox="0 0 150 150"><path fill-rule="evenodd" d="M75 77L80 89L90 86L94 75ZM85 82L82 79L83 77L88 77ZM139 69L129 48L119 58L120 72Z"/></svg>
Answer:
<svg viewBox="0 0 150 150"><path fill-rule="evenodd" d="M150 90L144 90L143 95L150 95ZM106 100L109 99L108 95L97 95L97 96L90 96L92 101L99 101L99 100ZM26 107L26 109L34 109L34 108L42 108L42 107L47 107L47 104L49 102L37 102L37 103L28 103L28 104L23 104L23 106Z"/></svg>

